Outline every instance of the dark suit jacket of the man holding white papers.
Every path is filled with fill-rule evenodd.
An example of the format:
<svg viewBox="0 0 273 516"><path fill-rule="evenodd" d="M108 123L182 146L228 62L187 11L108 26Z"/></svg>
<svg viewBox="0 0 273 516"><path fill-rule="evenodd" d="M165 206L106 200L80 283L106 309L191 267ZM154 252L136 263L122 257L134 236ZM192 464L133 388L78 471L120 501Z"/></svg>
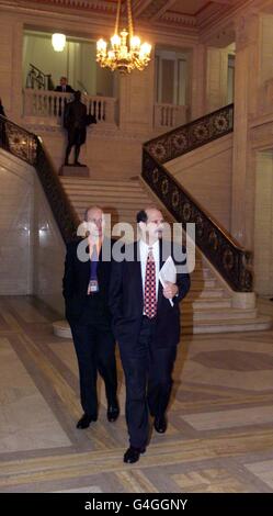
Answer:
<svg viewBox="0 0 273 516"><path fill-rule="evenodd" d="M134 246L134 256L137 256L138 243ZM185 249L183 249L185 253ZM172 254L173 258L173 254ZM173 258L174 263L178 263ZM162 260L162 242L160 242L160 268ZM155 345L158 348L177 346L180 339L180 310L179 302L190 289L190 276L177 274L179 295L173 299L171 306L163 296L162 285L159 282L158 303L156 315ZM121 347L134 349L143 321L144 293L141 280L141 265L134 261L113 262L110 285L110 310L113 316L113 332Z"/></svg>

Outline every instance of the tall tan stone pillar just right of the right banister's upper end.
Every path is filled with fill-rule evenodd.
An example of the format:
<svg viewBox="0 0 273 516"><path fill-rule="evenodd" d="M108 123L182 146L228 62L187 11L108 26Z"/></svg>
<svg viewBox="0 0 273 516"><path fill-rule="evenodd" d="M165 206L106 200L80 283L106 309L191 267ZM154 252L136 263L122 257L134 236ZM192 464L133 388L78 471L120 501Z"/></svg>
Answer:
<svg viewBox="0 0 273 516"><path fill-rule="evenodd" d="M247 245L250 181L249 115L257 111L259 81L259 15L241 16L236 26L235 124L232 156L231 234Z"/></svg>

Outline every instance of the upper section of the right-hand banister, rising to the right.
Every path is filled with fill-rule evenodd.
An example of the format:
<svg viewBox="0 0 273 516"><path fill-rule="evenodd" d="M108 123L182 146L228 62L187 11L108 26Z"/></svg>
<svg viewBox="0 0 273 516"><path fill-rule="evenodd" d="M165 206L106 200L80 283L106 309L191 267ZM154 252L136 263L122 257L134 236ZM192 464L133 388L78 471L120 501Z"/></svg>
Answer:
<svg viewBox="0 0 273 516"><path fill-rule="evenodd" d="M145 143L146 150L164 164L234 131L234 104L181 125Z"/></svg>

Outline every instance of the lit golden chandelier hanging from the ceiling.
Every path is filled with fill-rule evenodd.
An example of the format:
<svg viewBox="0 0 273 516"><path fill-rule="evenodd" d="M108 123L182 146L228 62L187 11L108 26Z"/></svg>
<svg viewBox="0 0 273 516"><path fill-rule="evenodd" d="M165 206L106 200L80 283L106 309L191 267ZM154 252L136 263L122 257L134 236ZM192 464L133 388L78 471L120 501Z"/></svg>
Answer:
<svg viewBox="0 0 273 516"><path fill-rule="evenodd" d="M107 51L107 43L102 38L96 42L96 61L102 68L107 67L122 74L129 74L134 69L144 70L150 60L151 51L149 43L141 43L138 36L134 36L130 0L126 0L126 3L128 31L123 29L118 35L122 4L122 0L118 0L115 32L111 37L112 48Z"/></svg>

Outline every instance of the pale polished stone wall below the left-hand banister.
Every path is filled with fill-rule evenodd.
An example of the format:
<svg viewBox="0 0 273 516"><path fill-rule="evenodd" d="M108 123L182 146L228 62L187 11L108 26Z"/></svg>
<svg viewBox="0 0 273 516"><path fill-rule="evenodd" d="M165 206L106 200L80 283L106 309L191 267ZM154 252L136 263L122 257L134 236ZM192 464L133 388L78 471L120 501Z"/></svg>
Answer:
<svg viewBox="0 0 273 516"><path fill-rule="evenodd" d="M64 314L65 245L30 165L0 149L0 295L35 294Z"/></svg>

